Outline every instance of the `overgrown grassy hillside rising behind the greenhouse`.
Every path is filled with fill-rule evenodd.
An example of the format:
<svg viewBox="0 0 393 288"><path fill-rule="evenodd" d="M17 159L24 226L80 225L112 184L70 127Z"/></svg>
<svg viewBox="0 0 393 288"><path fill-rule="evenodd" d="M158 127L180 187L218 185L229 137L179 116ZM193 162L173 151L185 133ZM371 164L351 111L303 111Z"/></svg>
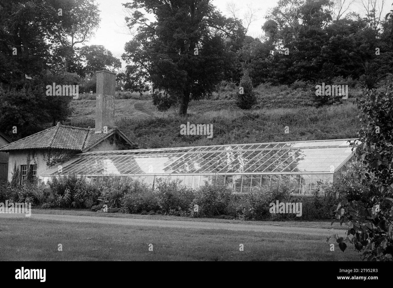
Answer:
<svg viewBox="0 0 393 288"><path fill-rule="evenodd" d="M224 87L210 100L191 101L188 115L178 116L178 108L158 112L149 94L116 92L116 125L140 148L184 147L356 138L360 123L353 97L331 106L316 108L312 91L286 86L257 88L258 103L252 110L235 105L236 90ZM94 127L95 95L72 101L68 124ZM213 138L180 135L180 125L213 124ZM289 133L285 133L285 126Z"/></svg>

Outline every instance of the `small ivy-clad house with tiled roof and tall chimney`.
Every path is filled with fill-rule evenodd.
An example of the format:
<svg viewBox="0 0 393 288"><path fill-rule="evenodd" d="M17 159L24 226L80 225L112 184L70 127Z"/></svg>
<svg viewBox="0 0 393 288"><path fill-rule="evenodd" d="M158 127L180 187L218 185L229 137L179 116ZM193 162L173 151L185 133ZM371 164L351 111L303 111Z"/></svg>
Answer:
<svg viewBox="0 0 393 288"><path fill-rule="evenodd" d="M0 169L2 155L7 154L8 159L6 179L11 182L14 178L23 185L26 180L37 178L75 154L134 149L134 143L114 126L115 77L114 72L97 72L95 128L73 127L59 122L12 143L2 143L0 137Z"/></svg>

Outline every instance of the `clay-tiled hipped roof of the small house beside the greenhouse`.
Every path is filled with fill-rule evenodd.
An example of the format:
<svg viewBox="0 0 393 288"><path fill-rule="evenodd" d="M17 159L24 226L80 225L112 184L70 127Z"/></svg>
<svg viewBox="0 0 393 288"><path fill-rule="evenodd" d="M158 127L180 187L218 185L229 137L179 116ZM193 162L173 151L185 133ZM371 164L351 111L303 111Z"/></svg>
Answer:
<svg viewBox="0 0 393 288"><path fill-rule="evenodd" d="M108 133L94 132L94 128L89 129L57 124L54 127L7 144L1 147L0 151L49 148L86 151L115 132L128 143L132 144L117 128L108 128Z"/></svg>

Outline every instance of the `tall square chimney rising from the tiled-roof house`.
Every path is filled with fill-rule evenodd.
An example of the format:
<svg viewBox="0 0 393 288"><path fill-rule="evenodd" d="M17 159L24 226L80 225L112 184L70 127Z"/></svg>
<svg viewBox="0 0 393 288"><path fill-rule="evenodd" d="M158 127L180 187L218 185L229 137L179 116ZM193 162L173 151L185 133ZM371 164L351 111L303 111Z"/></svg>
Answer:
<svg viewBox="0 0 393 288"><path fill-rule="evenodd" d="M97 90L95 96L95 133L102 133L104 126L115 126L116 73L106 70L95 72Z"/></svg>

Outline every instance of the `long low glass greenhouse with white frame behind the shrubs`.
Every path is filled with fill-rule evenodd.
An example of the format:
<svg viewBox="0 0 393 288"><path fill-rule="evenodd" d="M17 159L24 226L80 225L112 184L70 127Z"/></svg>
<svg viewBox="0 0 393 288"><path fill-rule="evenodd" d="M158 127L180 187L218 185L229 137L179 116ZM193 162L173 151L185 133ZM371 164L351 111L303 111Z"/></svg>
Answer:
<svg viewBox="0 0 393 288"><path fill-rule="evenodd" d="M192 188L215 181L233 193L288 181L296 194L310 195L318 181L333 183L354 161L350 142L359 143L357 139L338 139L85 152L40 178L47 181L75 174L94 182L139 180L153 187L178 179Z"/></svg>

